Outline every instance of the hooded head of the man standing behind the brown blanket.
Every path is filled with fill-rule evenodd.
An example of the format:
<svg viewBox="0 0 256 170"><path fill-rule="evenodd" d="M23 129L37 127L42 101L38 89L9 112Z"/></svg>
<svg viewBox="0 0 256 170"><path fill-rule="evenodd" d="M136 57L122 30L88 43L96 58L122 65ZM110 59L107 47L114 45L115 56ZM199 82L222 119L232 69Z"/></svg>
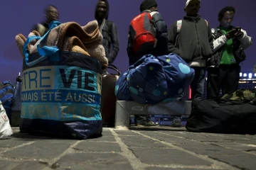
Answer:
<svg viewBox="0 0 256 170"><path fill-rule="evenodd" d="M98 20L107 19L109 11L109 3L107 0L100 0L97 3L95 18Z"/></svg>

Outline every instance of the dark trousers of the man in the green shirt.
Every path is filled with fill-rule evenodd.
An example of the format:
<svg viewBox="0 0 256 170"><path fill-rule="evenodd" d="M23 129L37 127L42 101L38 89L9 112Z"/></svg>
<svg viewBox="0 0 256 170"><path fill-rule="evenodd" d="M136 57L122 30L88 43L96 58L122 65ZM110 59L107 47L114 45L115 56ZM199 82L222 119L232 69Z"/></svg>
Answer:
<svg viewBox="0 0 256 170"><path fill-rule="evenodd" d="M232 94L238 89L240 65L209 67L207 79L207 98L218 98L220 89L223 94Z"/></svg>

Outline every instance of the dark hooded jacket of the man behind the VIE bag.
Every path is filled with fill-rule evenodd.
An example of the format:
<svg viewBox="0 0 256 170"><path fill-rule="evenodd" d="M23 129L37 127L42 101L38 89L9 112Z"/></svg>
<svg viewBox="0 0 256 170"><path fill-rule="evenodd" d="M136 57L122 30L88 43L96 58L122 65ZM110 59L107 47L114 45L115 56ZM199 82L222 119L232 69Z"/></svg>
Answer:
<svg viewBox="0 0 256 170"><path fill-rule="evenodd" d="M108 0L99 0L95 8L95 19L99 24L99 28L102 25L102 19L99 18L99 16L97 15L97 7L100 1L105 1L105 3L107 4L107 15L105 17L105 25L102 28L102 45L105 48L105 53L109 61L109 64L111 64L112 62L114 62L114 59L117 57L117 54L119 52L119 38L117 33L117 25L114 22L107 20L110 12L110 4Z"/></svg>

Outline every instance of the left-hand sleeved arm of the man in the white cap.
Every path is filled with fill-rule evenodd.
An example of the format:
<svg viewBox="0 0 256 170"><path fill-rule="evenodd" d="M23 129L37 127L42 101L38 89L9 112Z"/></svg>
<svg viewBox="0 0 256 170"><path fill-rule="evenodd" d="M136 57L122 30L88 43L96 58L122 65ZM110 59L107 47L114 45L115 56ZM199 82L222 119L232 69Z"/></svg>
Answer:
<svg viewBox="0 0 256 170"><path fill-rule="evenodd" d="M177 22L175 22L168 30L168 53L180 55L180 51L175 47L177 37Z"/></svg>

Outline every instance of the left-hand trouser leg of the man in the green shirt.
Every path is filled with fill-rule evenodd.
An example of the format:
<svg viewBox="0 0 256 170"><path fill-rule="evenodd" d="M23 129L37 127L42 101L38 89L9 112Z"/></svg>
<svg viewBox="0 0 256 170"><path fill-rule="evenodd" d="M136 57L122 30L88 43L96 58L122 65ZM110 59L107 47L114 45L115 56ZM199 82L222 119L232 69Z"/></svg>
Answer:
<svg viewBox="0 0 256 170"><path fill-rule="evenodd" d="M218 98L220 92L219 70L216 67L207 69L207 99Z"/></svg>

